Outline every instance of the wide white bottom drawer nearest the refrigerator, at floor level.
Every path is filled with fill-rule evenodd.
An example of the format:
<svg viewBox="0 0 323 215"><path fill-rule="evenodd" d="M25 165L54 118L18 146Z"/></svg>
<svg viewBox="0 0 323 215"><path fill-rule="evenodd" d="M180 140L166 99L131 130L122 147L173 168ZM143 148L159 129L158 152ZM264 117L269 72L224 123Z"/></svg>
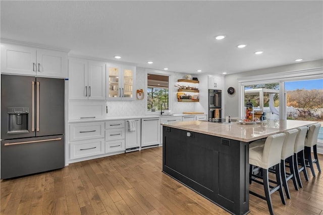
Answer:
<svg viewBox="0 0 323 215"><path fill-rule="evenodd" d="M77 142L71 142L70 144L71 159L104 154L104 138L94 140L81 140Z"/></svg>

